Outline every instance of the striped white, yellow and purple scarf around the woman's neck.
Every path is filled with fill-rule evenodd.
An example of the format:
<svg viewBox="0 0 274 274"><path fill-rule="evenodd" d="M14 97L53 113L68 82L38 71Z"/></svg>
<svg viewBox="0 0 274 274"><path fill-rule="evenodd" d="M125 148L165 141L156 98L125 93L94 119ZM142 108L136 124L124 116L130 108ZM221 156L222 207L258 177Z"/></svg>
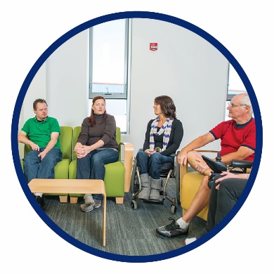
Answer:
<svg viewBox="0 0 274 274"><path fill-rule="evenodd" d="M156 117L156 119L152 122L151 128L150 128L150 150L153 151L155 148L155 142L154 142L154 134L159 136L162 133L164 133L164 138L163 138L163 148L161 150L164 151L167 148L167 144L169 143L169 137L171 133L171 126L172 122L174 121L173 118L167 118L166 122L162 125L161 129L157 132L157 125L159 122L159 116Z"/></svg>

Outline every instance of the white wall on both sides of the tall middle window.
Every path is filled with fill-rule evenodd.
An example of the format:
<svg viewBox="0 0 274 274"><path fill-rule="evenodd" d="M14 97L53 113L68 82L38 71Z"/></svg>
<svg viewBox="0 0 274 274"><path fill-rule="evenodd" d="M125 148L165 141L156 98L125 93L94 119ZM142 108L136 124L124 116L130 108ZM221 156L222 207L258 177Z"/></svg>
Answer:
<svg viewBox="0 0 274 274"><path fill-rule="evenodd" d="M33 100L43 96L49 115L62 126L81 125L89 115L88 38L88 30L81 32L48 58L46 68L34 77L35 89L32 84L27 91L21 122L33 117L25 110L32 110ZM149 50L150 42L158 43L157 51ZM133 143L135 152L143 146L148 121L155 117L156 96L174 99L184 127L181 148L223 121L228 60L202 37L169 22L133 19L131 54L130 133L122 141ZM217 150L218 142L207 148Z"/></svg>

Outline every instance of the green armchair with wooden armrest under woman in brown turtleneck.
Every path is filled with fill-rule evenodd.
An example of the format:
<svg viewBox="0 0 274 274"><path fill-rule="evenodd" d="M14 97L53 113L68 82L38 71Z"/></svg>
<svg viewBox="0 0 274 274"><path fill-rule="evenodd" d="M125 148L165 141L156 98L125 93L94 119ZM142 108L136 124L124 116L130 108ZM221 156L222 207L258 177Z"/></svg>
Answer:
<svg viewBox="0 0 274 274"><path fill-rule="evenodd" d="M73 130L73 148L77 142L77 138L81 131L81 126L74 127ZM119 144L119 159L115 163L105 164L105 192L107 197L115 197L117 204L124 203L124 193L129 192L132 160L133 160L133 145L131 143L121 142L121 131L119 127L116 129L116 141ZM124 156L122 158L121 156ZM122 159L122 161L121 161ZM69 167L69 178L75 179L77 171L77 156L73 152L73 159ZM78 197L84 196L83 194L70 195L70 202L72 204L77 203Z"/></svg>

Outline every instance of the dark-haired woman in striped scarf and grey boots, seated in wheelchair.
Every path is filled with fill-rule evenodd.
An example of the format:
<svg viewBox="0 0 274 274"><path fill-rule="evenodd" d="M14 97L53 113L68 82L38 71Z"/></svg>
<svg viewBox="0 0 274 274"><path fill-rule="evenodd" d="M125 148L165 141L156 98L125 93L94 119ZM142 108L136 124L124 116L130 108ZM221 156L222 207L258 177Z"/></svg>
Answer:
<svg viewBox="0 0 274 274"><path fill-rule="evenodd" d="M174 164L174 157L170 155L176 153L181 144L183 124L176 119L176 107L169 96L156 97L153 108L157 117L148 122L143 151L136 155L142 189L138 198L159 200L162 164Z"/></svg>

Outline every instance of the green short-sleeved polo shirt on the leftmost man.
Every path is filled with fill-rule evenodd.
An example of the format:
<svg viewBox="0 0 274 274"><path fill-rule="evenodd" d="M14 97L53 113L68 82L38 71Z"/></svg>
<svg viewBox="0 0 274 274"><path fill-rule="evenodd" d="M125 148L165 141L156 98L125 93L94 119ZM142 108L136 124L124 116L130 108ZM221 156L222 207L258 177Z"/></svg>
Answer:
<svg viewBox="0 0 274 274"><path fill-rule="evenodd" d="M27 133L30 141L39 145L39 148L46 148L49 141L51 141L51 133L61 133L59 123L53 117L46 117L46 120L41 122L37 121L36 117L30 118L25 122L21 130ZM54 148L61 149L59 136Z"/></svg>

